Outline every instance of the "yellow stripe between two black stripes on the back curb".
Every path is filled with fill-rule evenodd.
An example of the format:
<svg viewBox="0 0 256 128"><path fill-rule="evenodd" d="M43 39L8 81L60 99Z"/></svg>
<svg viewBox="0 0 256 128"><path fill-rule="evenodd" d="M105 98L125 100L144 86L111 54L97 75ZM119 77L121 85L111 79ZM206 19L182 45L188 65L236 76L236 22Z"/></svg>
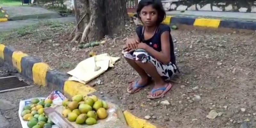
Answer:
<svg viewBox="0 0 256 128"><path fill-rule="evenodd" d="M220 20L217 20L217 19L198 18L194 22L194 26L200 26L200 27L218 28L219 25L220 25Z"/></svg>

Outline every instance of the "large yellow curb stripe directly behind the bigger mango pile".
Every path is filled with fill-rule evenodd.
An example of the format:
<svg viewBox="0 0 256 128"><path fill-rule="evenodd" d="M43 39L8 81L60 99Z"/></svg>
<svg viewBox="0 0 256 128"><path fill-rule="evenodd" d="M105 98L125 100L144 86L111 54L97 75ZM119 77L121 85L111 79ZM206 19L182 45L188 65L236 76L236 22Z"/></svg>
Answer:
<svg viewBox="0 0 256 128"><path fill-rule="evenodd" d="M92 92L96 92L96 90L88 85L81 84L76 81L65 81L64 84L64 93L68 94L69 96L75 96L81 94L83 96L87 96Z"/></svg>

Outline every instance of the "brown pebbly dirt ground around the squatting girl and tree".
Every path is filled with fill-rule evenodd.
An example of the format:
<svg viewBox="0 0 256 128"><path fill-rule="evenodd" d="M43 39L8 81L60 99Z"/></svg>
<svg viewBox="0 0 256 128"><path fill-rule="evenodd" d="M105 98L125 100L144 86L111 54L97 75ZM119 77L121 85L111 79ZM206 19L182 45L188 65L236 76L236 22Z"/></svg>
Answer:
<svg viewBox="0 0 256 128"><path fill-rule="evenodd" d="M121 55L122 40L134 34L132 24L116 36L106 37L106 44L87 49L69 43L73 28L74 24L48 23L22 35L9 33L4 42L63 72L88 58L90 51L121 57L114 68L92 81L102 83L94 88L118 99L124 110L141 118L150 116L149 121L158 126L237 128L247 120L256 127L256 33L173 30L181 73L174 77L174 86L163 99L148 100L152 86L132 95L126 92L128 84L138 78ZM201 99L193 100L195 95ZM161 104L163 100L170 105ZM219 116L207 118L211 110Z"/></svg>

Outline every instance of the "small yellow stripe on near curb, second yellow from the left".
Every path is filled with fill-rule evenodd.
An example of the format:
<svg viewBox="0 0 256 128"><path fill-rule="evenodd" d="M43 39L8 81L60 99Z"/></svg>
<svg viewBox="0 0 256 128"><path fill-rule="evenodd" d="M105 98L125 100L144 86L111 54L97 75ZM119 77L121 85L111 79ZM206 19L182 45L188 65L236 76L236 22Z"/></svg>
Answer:
<svg viewBox="0 0 256 128"><path fill-rule="evenodd" d="M15 51L12 53L12 65L18 70L18 72L21 72L20 62L22 57L24 56L28 56L28 55L20 51Z"/></svg>

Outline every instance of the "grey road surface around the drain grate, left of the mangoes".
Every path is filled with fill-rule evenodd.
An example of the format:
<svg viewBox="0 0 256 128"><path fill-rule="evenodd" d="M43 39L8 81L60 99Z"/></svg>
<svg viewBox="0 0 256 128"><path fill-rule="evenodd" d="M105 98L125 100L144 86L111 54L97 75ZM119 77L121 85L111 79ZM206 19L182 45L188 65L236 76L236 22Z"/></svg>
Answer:
<svg viewBox="0 0 256 128"><path fill-rule="evenodd" d="M8 70L10 71L12 69L5 67L3 63L0 62L0 76L8 76L13 73L13 71L9 72ZM47 88L32 86L0 93L0 128L22 128L18 115L20 100L33 97L47 97L51 92L52 91Z"/></svg>

